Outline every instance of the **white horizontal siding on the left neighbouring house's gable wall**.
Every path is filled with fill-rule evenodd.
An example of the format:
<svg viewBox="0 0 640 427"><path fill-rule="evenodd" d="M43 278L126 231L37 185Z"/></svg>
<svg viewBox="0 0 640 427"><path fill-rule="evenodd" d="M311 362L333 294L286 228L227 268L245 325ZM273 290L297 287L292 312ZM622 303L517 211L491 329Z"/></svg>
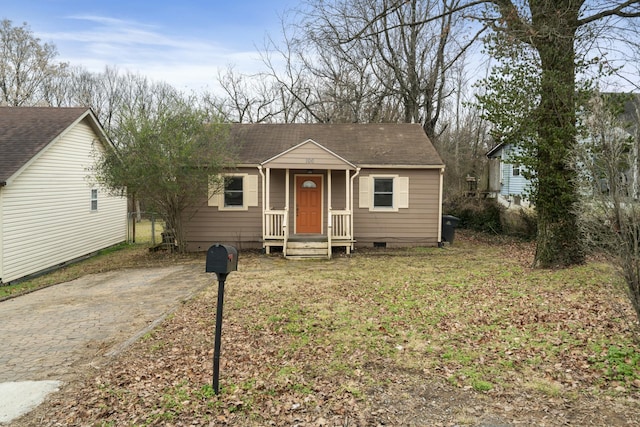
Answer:
<svg viewBox="0 0 640 427"><path fill-rule="evenodd" d="M109 196L88 178L93 148L103 149L94 141L92 128L78 123L2 189L3 282L126 240L126 198Z"/></svg>

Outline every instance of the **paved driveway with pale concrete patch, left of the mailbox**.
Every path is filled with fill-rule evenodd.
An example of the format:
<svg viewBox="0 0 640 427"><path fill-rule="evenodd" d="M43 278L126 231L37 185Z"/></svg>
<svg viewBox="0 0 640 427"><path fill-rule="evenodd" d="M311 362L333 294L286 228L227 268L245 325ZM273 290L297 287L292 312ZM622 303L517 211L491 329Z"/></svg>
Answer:
<svg viewBox="0 0 640 427"><path fill-rule="evenodd" d="M92 274L0 302L0 424L118 354L207 285L203 264Z"/></svg>

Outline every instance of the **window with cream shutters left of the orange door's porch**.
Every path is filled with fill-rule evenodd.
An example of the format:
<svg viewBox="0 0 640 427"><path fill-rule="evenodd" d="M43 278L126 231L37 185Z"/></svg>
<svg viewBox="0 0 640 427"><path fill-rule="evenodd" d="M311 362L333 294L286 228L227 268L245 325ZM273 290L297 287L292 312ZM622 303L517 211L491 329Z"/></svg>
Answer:
<svg viewBox="0 0 640 427"><path fill-rule="evenodd" d="M224 177L224 189L209 188L208 205L219 210L247 210L258 206L258 176L228 174Z"/></svg>

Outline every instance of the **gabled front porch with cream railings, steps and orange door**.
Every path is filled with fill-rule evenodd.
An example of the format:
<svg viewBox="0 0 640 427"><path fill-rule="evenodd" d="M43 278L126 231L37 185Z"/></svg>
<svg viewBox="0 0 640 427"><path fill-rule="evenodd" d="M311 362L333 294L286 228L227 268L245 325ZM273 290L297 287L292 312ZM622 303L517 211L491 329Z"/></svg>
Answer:
<svg viewBox="0 0 640 427"><path fill-rule="evenodd" d="M331 258L354 245L353 187L360 168L307 140L259 166L262 242L286 258Z"/></svg>

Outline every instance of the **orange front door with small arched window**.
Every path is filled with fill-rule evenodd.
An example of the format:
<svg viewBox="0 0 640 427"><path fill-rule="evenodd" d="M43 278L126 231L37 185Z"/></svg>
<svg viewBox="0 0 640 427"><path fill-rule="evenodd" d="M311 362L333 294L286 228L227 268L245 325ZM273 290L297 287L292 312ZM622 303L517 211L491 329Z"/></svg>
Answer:
<svg viewBox="0 0 640 427"><path fill-rule="evenodd" d="M296 176L296 233L322 233L321 176Z"/></svg>

